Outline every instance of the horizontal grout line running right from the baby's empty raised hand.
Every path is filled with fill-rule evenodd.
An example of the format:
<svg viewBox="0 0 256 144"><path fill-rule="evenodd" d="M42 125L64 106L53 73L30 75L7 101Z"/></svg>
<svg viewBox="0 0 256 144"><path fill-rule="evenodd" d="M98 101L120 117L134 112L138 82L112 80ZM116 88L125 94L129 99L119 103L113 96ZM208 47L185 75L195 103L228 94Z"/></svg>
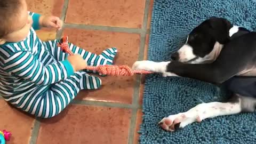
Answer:
<svg viewBox="0 0 256 144"><path fill-rule="evenodd" d="M135 33L135 34L141 33L141 29L139 28L95 26L95 25L82 25L82 24L74 24L74 23L64 23L63 28L79 28L79 29L88 29L88 30L103 30L103 31L114 31L114 32Z"/></svg>

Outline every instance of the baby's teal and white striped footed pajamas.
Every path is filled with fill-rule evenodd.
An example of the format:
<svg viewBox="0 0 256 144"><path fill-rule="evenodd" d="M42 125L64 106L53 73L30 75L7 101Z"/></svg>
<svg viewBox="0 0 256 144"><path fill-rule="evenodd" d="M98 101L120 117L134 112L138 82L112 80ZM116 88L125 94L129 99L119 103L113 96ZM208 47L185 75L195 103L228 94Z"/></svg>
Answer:
<svg viewBox="0 0 256 144"><path fill-rule="evenodd" d="M36 18L39 15L33 16L34 22ZM0 45L0 94L29 114L50 118L59 114L80 90L98 89L101 80L85 71L74 73L66 60L68 55L57 46L58 40L42 42L33 28L24 41ZM116 48L110 48L97 55L69 45L90 66L111 65L117 53Z"/></svg>

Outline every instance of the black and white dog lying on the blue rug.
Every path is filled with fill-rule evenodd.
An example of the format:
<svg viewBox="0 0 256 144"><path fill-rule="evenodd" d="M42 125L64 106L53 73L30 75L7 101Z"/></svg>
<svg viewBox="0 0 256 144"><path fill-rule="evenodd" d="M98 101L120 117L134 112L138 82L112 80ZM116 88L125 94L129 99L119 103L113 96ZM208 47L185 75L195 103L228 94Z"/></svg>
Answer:
<svg viewBox="0 0 256 144"><path fill-rule="evenodd" d="M213 84L227 83L233 93L227 102L201 103L162 119L164 130L174 131L193 122L221 115L253 112L256 106L256 32L212 17L194 28L186 43L171 55L172 61L137 61L133 69L163 76L195 78Z"/></svg>

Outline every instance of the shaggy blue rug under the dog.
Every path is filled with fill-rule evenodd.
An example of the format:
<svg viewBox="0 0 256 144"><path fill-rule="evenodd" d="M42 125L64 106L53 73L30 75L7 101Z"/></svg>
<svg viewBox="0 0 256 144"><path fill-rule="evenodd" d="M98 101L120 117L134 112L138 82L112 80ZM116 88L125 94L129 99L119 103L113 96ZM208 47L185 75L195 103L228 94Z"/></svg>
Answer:
<svg viewBox="0 0 256 144"><path fill-rule="evenodd" d="M255 0L155 0L148 59L170 60L188 33L212 16L256 30L255 7ZM187 111L199 103L220 101L225 93L195 79L148 75L140 143L256 143L255 113L205 119L175 132L166 132L157 125L163 117Z"/></svg>

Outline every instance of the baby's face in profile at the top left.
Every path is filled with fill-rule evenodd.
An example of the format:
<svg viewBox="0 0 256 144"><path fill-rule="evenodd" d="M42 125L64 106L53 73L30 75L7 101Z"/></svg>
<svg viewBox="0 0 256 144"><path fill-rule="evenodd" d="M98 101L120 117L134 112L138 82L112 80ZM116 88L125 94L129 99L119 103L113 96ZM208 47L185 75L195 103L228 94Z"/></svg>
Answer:
<svg viewBox="0 0 256 144"><path fill-rule="evenodd" d="M23 41L23 39L28 36L29 30L32 26L33 20L28 14L26 1L20 1L22 3L20 7L20 13L12 18L13 23L10 23L11 32L3 38L5 42Z"/></svg>

